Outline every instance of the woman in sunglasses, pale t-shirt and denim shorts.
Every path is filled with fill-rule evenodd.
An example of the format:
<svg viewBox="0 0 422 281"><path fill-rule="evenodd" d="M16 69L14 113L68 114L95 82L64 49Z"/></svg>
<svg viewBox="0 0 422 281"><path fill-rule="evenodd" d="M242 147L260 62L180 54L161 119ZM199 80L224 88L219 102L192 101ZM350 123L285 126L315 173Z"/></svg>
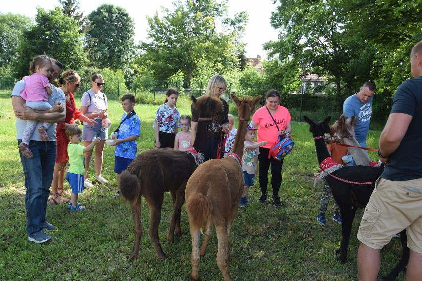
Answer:
<svg viewBox="0 0 422 281"><path fill-rule="evenodd" d="M84 129L82 130L82 141L84 146L88 146L95 138L101 137L95 145L95 180L101 184L107 184L107 180L101 176L101 169L103 168L103 150L106 140L108 139L108 129L103 126L101 119L107 118L107 96L101 92L104 83L103 76L99 73L94 74L91 79L91 89L84 93L81 99L81 112L85 116L94 119L97 123L90 126L84 122ZM92 152L85 153L85 174L84 174L84 187L93 187L90 180L88 180L89 160L91 159Z"/></svg>

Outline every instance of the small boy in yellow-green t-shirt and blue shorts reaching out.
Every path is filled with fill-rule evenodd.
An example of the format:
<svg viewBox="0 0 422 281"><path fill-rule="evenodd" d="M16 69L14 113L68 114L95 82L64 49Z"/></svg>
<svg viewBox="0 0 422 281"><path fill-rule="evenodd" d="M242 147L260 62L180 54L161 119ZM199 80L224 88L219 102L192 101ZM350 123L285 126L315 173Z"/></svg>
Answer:
<svg viewBox="0 0 422 281"><path fill-rule="evenodd" d="M68 208L71 212L82 211L84 206L78 203L78 194L84 192L84 173L85 173L85 152L91 152L95 145L101 141L97 137L87 147L79 144L82 141L82 130L78 126L70 126L66 129L66 136L70 143L67 146L69 154L69 170L66 174L66 180L72 188L70 194L70 203Z"/></svg>

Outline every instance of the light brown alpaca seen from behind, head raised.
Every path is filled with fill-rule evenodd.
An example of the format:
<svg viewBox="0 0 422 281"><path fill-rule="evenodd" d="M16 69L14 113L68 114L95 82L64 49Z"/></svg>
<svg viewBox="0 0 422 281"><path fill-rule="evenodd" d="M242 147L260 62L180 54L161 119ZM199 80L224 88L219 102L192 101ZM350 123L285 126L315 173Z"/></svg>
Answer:
<svg viewBox="0 0 422 281"><path fill-rule="evenodd" d="M213 159L201 164L192 174L186 185L186 209L189 215L189 226L192 235L192 273L190 277L198 280L199 258L204 256L208 241L212 234L212 223L218 237L217 265L225 281L232 280L228 261L229 239L234 216L239 208L239 200L243 193L243 172L241 168L246 126L255 105L261 96L238 99L231 94L232 100L239 110L239 126L234 140L233 153L223 159ZM207 224L204 242L199 250L201 228Z"/></svg>

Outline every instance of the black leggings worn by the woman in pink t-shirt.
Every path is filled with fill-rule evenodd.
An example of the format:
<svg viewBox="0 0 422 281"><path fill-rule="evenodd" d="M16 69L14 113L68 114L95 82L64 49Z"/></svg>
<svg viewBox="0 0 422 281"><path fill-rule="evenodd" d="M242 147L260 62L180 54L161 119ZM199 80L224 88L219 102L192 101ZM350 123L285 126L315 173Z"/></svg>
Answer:
<svg viewBox="0 0 422 281"><path fill-rule="evenodd" d="M278 195L278 191L281 187L281 169L283 168L283 160L277 161L271 157L268 159L269 148L259 148L260 154L258 154L258 163L260 164L260 171L258 173L258 180L260 182L261 194L266 194L268 186L268 171L271 166L271 185L272 195Z"/></svg>

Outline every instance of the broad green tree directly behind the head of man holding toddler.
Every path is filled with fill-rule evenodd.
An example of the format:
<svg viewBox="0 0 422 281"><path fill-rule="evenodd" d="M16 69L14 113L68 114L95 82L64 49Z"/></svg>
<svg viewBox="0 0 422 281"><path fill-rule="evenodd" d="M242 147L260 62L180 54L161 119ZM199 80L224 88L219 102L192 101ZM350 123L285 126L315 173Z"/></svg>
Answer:
<svg viewBox="0 0 422 281"><path fill-rule="evenodd" d="M64 16L60 7L50 11L38 8L35 22L22 34L23 40L18 46L18 56L14 62L16 78L28 75L29 62L44 53L61 61L65 68L80 71L87 57L78 23Z"/></svg>

